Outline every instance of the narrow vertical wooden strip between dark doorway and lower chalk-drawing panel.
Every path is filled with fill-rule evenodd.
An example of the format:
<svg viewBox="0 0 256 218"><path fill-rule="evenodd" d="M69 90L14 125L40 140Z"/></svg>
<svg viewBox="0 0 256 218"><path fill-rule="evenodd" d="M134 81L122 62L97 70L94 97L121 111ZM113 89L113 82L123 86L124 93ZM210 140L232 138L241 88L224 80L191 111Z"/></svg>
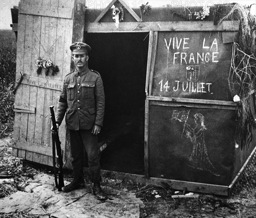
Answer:
<svg viewBox="0 0 256 218"><path fill-rule="evenodd" d="M145 135L144 135L144 164L145 177L148 178L148 122L149 122L149 101L145 100Z"/></svg>

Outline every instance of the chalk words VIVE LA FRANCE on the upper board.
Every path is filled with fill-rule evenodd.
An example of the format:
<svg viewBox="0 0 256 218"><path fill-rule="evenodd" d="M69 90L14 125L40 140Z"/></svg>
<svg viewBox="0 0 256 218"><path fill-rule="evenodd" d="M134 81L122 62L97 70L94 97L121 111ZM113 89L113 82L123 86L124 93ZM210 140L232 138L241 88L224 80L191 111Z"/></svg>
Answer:
<svg viewBox="0 0 256 218"><path fill-rule="evenodd" d="M165 40L166 48L169 52L170 48L179 50L183 49L183 52L175 52L173 53L173 64L199 64L199 63L217 63L218 62L218 43L217 40L214 39L212 42L206 42L204 38L203 41L203 49L206 49L205 52L197 52L197 53L187 53L186 49L189 49L189 38L180 38L171 37L169 42ZM213 51L214 50L214 51Z"/></svg>

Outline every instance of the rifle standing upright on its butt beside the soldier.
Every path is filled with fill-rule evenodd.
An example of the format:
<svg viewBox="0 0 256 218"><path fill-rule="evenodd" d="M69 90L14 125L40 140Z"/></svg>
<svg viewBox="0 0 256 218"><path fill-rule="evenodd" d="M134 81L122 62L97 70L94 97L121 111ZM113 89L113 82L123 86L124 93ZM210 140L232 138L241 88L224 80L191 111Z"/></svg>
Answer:
<svg viewBox="0 0 256 218"><path fill-rule="evenodd" d="M53 162L53 170L54 170L54 179L55 179L55 186L58 188L58 191L61 191L61 188L64 187L64 180L63 180L63 160L62 160L62 152L61 152L61 142L58 135L55 114L53 110L54 106L50 106L51 112L51 119L52 119L52 162ZM56 153L55 153L55 145L57 150L57 157L58 157L58 178L56 172Z"/></svg>

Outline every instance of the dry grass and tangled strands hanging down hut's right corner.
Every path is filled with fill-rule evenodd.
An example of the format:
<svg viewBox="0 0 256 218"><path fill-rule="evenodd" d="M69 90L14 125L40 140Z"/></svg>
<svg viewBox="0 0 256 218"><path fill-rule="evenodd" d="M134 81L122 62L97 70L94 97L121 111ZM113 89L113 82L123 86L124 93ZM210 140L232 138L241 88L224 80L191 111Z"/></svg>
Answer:
<svg viewBox="0 0 256 218"><path fill-rule="evenodd" d="M217 6L218 7L218 6ZM233 43L230 76L228 78L230 91L234 95L239 87L237 102L237 133L241 148L251 142L252 130L256 130L256 16L250 13L251 6L232 5L231 11L222 18L224 20L239 18L239 42ZM237 99L237 97L236 97ZM234 99L235 101L235 99Z"/></svg>

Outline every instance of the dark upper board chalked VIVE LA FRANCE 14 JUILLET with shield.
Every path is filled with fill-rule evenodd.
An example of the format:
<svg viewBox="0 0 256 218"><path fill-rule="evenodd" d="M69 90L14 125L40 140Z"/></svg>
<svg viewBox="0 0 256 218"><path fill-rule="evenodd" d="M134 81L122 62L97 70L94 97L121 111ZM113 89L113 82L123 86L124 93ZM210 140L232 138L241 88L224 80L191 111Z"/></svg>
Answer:
<svg viewBox="0 0 256 218"><path fill-rule="evenodd" d="M232 101L232 44L218 31L161 31L152 96Z"/></svg>

